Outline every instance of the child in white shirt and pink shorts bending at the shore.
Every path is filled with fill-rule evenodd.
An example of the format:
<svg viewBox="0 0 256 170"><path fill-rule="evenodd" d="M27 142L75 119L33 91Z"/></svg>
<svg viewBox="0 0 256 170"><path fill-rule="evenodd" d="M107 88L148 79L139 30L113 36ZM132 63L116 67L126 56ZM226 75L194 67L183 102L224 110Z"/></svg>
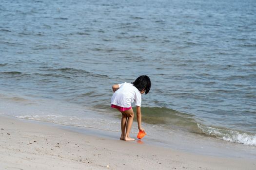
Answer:
<svg viewBox="0 0 256 170"><path fill-rule="evenodd" d="M112 86L114 94L111 98L111 107L118 109L122 113L121 140L135 140L129 136L134 118L132 102L135 102L137 106L138 129L144 132L144 129L141 127L141 94L147 94L150 87L151 82L146 75L139 76L133 83L123 83Z"/></svg>

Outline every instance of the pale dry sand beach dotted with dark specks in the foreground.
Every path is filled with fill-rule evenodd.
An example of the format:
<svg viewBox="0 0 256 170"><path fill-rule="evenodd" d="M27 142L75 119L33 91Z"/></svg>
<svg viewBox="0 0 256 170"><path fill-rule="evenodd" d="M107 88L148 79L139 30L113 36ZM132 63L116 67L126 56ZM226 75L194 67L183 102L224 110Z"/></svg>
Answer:
<svg viewBox="0 0 256 170"><path fill-rule="evenodd" d="M256 170L256 160L186 153L0 116L0 170Z"/></svg>

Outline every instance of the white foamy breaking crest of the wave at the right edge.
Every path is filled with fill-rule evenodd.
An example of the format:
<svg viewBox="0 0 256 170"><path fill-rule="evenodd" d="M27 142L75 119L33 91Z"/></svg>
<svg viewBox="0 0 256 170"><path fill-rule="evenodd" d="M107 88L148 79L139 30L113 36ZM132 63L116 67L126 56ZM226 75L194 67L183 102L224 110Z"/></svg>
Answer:
<svg viewBox="0 0 256 170"><path fill-rule="evenodd" d="M242 143L245 145L256 146L256 134L248 134L245 132L238 132L235 130L221 129L215 127L204 126L197 123L198 128L208 136L215 136L229 142Z"/></svg>

